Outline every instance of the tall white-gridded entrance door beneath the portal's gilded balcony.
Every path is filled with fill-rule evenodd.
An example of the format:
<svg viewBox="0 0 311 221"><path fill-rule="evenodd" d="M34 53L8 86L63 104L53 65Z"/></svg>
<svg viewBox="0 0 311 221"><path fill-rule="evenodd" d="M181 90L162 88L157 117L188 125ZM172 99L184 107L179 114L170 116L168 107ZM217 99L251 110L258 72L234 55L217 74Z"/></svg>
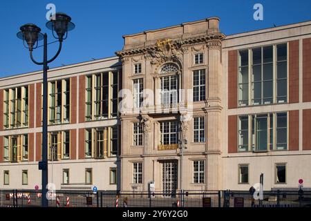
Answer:
<svg viewBox="0 0 311 221"><path fill-rule="evenodd" d="M162 162L162 191L164 197L175 197L177 189L177 161Z"/></svg>

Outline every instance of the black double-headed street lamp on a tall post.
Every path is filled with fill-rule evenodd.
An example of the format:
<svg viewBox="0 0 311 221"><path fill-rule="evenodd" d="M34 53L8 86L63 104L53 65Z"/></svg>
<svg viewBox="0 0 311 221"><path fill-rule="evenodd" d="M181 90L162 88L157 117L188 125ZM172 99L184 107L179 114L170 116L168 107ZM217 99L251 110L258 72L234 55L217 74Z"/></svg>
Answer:
<svg viewBox="0 0 311 221"><path fill-rule="evenodd" d="M46 193L48 192L48 63L54 61L59 52L62 50L62 41L67 38L68 31L75 28L75 24L71 22L71 18L61 12L55 13L54 19L46 23L46 28L52 30L53 37L58 39L59 48L56 55L48 60L48 35L41 34L41 28L33 23L26 23L21 26L17 37L23 40L23 45L28 48L30 59L37 65L43 65L43 115L42 115L42 161L39 162L39 169L42 171L42 197L41 206L48 206ZM35 61L32 57L32 50L37 48L38 41L44 39L44 57L42 62ZM27 46L26 46L26 44Z"/></svg>

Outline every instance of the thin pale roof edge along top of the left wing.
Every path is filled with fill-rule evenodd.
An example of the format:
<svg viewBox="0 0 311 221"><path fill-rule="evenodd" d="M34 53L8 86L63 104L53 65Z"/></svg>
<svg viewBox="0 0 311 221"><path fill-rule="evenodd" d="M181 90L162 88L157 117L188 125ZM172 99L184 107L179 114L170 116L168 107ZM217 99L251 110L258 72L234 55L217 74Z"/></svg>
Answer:
<svg viewBox="0 0 311 221"><path fill-rule="evenodd" d="M84 65L88 65L88 64L96 64L96 63L100 63L100 62L104 62L104 61L111 61L111 60L114 60L114 59L115 60L120 60L120 58L117 57L117 56L104 57L104 58L94 59L94 60L90 60L90 61L82 61L82 62L77 62L77 63L74 63L74 64L68 64L68 65L65 65L65 66L58 66L58 67L55 67L55 68L50 68L50 69L48 69L48 71L63 70L63 69L66 69L66 68L75 68L76 66L84 66ZM6 80L6 79L11 79L13 77L26 77L28 75L36 75L36 74L39 74L39 73L42 73L42 72L43 72L43 70L35 70L35 71L27 72L27 73L8 75L6 77L0 77L0 81Z"/></svg>

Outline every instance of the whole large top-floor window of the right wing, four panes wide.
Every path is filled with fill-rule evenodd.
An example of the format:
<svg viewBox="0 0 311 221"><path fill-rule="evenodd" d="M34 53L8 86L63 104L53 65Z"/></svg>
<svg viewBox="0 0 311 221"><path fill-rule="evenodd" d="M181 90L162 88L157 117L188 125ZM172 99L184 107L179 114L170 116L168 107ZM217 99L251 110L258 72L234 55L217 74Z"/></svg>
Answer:
<svg viewBox="0 0 311 221"><path fill-rule="evenodd" d="M239 51L239 106L287 102L287 50L278 44Z"/></svg>

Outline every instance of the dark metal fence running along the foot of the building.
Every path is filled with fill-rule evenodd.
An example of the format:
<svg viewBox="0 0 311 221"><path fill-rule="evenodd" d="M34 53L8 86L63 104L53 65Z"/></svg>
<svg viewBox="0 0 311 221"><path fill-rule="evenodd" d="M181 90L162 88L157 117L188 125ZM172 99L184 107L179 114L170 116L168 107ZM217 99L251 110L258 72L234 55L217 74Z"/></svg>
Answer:
<svg viewBox="0 0 311 221"><path fill-rule="evenodd" d="M50 207L311 207L311 191L55 191ZM41 206L41 191L0 190L0 207Z"/></svg>

